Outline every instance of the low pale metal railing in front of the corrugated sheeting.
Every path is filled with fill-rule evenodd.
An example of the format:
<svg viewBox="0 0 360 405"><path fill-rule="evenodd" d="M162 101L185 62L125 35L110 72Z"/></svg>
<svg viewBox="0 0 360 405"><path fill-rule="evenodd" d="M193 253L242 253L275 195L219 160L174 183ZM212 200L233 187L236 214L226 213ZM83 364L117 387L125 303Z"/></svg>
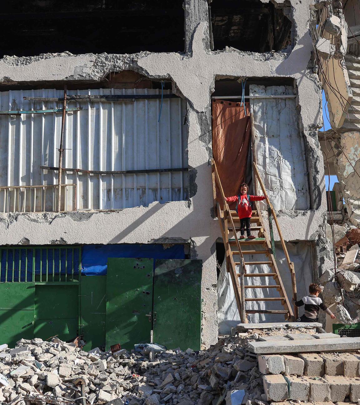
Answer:
<svg viewBox="0 0 360 405"><path fill-rule="evenodd" d="M62 192L60 210L58 210L58 184L1 186L1 212L76 211L76 184L62 184L61 187L65 188L65 192ZM68 201L69 187L73 187L71 207Z"/></svg>

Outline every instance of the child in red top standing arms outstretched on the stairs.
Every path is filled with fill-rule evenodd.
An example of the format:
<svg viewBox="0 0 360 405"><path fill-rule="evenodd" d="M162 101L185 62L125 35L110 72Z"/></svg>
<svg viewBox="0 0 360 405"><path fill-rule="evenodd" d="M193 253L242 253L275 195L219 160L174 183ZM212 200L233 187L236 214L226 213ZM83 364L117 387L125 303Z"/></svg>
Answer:
<svg viewBox="0 0 360 405"><path fill-rule="evenodd" d="M265 200L265 196L250 196L247 194L249 190L249 186L246 183L240 184L240 194L239 196L233 197L226 197L226 201L229 203L233 203L237 201L236 204L236 212L239 214L240 218L240 239L245 239L245 225L246 225L246 233L247 239L255 239L256 236L251 235L250 232L250 218L252 215L252 208L250 205L251 201L262 201Z"/></svg>

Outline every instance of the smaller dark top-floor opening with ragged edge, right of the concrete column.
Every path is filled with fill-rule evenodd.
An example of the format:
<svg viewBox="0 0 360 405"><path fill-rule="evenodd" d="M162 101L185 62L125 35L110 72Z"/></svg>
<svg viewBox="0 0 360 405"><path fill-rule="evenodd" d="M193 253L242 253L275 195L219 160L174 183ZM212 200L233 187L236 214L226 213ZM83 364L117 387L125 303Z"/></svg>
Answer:
<svg viewBox="0 0 360 405"><path fill-rule="evenodd" d="M280 51L292 44L290 2L275 6L260 0L209 1L211 49L226 46L240 51Z"/></svg>

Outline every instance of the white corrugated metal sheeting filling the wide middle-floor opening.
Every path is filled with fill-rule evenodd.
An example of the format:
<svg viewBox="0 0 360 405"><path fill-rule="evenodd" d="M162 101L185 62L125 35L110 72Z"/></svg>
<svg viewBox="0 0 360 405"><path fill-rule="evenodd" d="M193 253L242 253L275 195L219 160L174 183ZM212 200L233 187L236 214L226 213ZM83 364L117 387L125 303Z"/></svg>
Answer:
<svg viewBox="0 0 360 405"><path fill-rule="evenodd" d="M164 91L164 94L170 91ZM161 90L71 90L72 94L161 94ZM62 102L23 100L62 97L61 90L0 93L1 110L54 109ZM186 104L180 98L135 102L71 102L82 111L66 114L63 167L119 171L187 168ZM0 186L57 184L58 174L40 166L58 166L61 113L0 115ZM78 209L121 209L147 206L153 201L187 198L187 173L91 175L67 172L63 183L77 185ZM72 209L74 188L63 192L62 209ZM1 211L54 211L56 188L0 192ZM35 197L35 209L34 209Z"/></svg>

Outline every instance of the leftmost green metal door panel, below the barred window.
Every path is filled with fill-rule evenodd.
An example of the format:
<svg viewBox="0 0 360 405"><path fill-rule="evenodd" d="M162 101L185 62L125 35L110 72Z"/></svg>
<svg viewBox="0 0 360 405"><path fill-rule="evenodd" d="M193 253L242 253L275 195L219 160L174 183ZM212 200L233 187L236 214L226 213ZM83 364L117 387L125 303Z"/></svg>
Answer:
<svg viewBox="0 0 360 405"><path fill-rule="evenodd" d="M14 347L34 337L35 283L0 283L0 337Z"/></svg>

